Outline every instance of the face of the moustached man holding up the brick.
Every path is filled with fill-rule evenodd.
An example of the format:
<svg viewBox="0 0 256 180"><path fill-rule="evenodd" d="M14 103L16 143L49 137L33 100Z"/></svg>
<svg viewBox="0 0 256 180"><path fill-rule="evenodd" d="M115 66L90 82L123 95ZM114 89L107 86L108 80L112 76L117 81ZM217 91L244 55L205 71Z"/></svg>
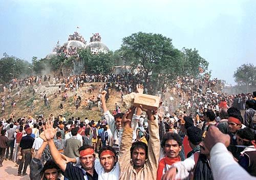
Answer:
<svg viewBox="0 0 256 180"><path fill-rule="evenodd" d="M143 167L146 161L146 152L142 148L135 148L132 152L132 161L135 168Z"/></svg>

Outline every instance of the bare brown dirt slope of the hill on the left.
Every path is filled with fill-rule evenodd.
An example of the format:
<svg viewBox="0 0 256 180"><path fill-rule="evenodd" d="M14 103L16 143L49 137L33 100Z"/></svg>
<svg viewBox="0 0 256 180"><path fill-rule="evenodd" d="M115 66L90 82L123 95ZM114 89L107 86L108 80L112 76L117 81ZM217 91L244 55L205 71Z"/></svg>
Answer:
<svg viewBox="0 0 256 180"><path fill-rule="evenodd" d="M93 98L93 96L97 97L99 93L99 85L103 85L104 83L84 83L82 87L79 87L76 92L68 91L68 98L66 102L62 101L61 94L58 94L58 85L48 84L42 86L27 86L22 87L20 89L20 93L22 94L22 98L18 98L17 91L18 89L14 89L13 92L10 93L11 98L7 99L8 93L1 93L1 95L5 95L6 99L6 106L5 106L5 113L0 114L0 118L10 118L13 114L16 119L20 117L27 117L31 115L32 117L36 117L38 115L44 115L44 118L49 118L51 114L57 116L61 114L66 117L66 119L70 117L80 117L82 120L84 118L89 118L93 120L100 120L102 113L100 113L100 109L98 108L97 104L92 109L89 110L86 107L86 100L88 98ZM87 86L93 85L94 91L90 94L86 94ZM33 89L37 88L37 93L33 95ZM44 100L40 99L39 93L42 92L43 94L47 94L49 98L49 106L44 106ZM57 94L57 97L54 98L54 93ZM81 105L78 109L75 107L75 100L74 95L81 97ZM33 107L33 101L36 99L36 104ZM14 108L11 107L12 100L16 101L16 106ZM63 109L60 109L60 103L63 104ZM107 102L107 107L110 111L115 109L115 103L121 106L121 98L120 93L116 92L112 89L110 98ZM123 109L122 109L123 110Z"/></svg>

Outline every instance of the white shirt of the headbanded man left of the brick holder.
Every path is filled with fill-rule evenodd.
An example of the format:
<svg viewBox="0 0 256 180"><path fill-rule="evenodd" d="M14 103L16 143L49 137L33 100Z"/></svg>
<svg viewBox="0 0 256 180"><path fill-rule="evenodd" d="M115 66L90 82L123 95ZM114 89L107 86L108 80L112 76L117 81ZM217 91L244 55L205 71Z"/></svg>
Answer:
<svg viewBox="0 0 256 180"><path fill-rule="evenodd" d="M110 172L105 172L98 159L95 160L94 168L98 173L98 180L118 180L120 174L120 166L117 162Z"/></svg>

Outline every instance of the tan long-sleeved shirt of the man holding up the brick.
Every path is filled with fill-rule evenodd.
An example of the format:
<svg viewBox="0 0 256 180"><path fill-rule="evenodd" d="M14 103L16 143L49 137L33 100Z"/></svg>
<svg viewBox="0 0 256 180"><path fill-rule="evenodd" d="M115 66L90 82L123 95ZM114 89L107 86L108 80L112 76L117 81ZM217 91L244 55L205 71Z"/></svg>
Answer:
<svg viewBox="0 0 256 180"><path fill-rule="evenodd" d="M148 141L148 159L144 167L137 173L131 161L130 149L132 147L133 129L124 128L119 151L120 180L155 180L157 178L158 159L160 154L160 140L158 121L148 121L150 139Z"/></svg>

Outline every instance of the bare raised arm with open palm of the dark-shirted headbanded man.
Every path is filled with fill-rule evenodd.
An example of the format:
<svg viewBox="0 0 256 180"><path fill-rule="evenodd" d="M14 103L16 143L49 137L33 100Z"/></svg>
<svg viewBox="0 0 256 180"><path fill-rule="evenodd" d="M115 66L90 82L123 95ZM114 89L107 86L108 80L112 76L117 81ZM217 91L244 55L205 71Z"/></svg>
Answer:
<svg viewBox="0 0 256 180"><path fill-rule="evenodd" d="M54 144L54 141L53 141L55 133L57 131L57 128L54 129L52 121L48 121L44 130L45 130L45 136L48 141L48 145L49 145L49 149L50 149L52 158L55 161L55 163L58 165L58 167L61 169L61 171L65 172L67 164L61 158L61 155L60 155L59 151L57 150L57 148Z"/></svg>

